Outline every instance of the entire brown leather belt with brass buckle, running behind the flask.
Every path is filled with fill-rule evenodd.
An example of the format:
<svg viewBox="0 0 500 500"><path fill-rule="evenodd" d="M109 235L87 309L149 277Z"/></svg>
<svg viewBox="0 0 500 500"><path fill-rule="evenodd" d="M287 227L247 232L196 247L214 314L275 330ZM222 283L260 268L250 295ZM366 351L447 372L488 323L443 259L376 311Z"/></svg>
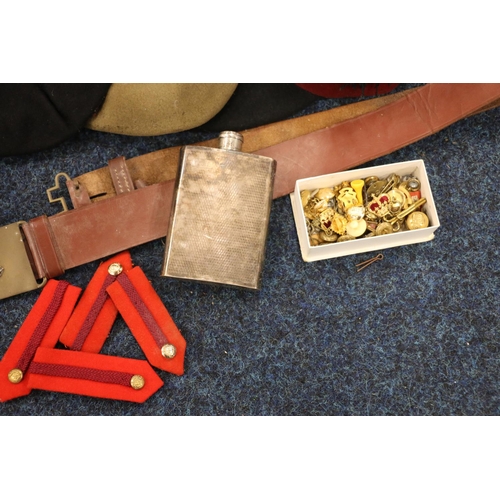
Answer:
<svg viewBox="0 0 500 500"><path fill-rule="evenodd" d="M499 103L500 84L428 84L242 132L242 150L277 160L277 198L297 179L361 165ZM217 140L198 145L215 147ZM179 150L116 158L68 179L73 210L0 228L8 236L0 238L0 299L164 237ZM21 245L26 256L13 258Z"/></svg>

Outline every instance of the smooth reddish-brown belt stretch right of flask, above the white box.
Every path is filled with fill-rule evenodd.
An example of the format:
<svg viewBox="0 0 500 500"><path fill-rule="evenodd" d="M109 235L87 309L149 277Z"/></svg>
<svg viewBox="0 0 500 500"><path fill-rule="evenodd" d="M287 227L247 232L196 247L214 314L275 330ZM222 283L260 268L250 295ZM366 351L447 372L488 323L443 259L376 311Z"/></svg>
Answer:
<svg viewBox="0 0 500 500"><path fill-rule="evenodd" d="M383 108L257 154L278 163L274 197L291 193L295 181L349 170L389 154L498 100L500 84L431 84Z"/></svg>

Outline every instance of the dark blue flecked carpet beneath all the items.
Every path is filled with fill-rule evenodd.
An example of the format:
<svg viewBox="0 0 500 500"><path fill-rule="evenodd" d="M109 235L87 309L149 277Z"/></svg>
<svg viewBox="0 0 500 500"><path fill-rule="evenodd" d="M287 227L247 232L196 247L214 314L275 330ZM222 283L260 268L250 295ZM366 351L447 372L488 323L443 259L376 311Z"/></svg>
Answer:
<svg viewBox="0 0 500 500"><path fill-rule="evenodd" d="M45 189L58 172L206 138L84 130L2 158L0 226L56 213ZM433 241L384 250L360 273L376 252L305 263L286 196L273 202L259 292L162 278L163 242L137 247L134 263L187 341L185 375L157 370L165 385L143 404L33 391L0 415L499 415L500 109L363 167L418 158L441 222ZM85 288L97 264L64 278ZM37 297L0 301L0 356ZM145 359L121 318L102 352Z"/></svg>

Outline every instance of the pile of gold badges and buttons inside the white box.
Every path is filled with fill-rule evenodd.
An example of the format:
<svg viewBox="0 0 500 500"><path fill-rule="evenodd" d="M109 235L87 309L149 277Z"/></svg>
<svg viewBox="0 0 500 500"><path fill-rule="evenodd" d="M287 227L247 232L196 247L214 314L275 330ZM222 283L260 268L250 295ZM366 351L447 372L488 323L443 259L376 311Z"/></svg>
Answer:
<svg viewBox="0 0 500 500"><path fill-rule="evenodd" d="M300 192L311 246L428 227L426 198L414 176L344 181Z"/></svg>

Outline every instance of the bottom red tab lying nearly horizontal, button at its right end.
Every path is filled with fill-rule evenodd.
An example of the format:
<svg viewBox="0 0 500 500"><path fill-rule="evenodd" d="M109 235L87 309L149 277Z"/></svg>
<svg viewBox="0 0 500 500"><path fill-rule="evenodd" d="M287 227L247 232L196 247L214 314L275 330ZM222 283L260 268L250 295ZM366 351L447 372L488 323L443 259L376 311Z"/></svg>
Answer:
<svg viewBox="0 0 500 500"><path fill-rule="evenodd" d="M142 377L143 387L134 389L133 377ZM163 380L147 361L40 348L28 384L31 389L143 403L163 386Z"/></svg>

